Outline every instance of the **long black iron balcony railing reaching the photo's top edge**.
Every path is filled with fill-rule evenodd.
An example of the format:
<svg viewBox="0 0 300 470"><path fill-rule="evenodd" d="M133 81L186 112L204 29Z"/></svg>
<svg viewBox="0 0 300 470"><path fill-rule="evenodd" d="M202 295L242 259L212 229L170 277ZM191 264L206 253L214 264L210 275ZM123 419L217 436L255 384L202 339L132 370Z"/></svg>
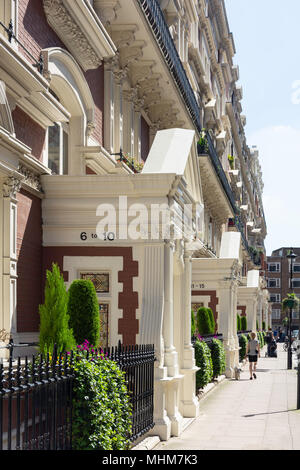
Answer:
<svg viewBox="0 0 300 470"><path fill-rule="evenodd" d="M138 0L191 118L200 132L200 108L157 0Z"/></svg>

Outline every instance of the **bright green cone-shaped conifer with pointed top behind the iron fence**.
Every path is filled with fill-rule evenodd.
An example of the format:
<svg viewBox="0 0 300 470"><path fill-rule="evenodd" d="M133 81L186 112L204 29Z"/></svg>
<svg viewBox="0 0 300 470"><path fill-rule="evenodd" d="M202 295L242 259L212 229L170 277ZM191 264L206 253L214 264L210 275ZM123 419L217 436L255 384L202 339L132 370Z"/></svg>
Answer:
<svg viewBox="0 0 300 470"><path fill-rule="evenodd" d="M69 326L67 305L68 293L64 279L58 265L53 263L52 271L46 271L45 301L39 306L39 349L44 355L52 353L55 344L58 353L70 351L76 346Z"/></svg>

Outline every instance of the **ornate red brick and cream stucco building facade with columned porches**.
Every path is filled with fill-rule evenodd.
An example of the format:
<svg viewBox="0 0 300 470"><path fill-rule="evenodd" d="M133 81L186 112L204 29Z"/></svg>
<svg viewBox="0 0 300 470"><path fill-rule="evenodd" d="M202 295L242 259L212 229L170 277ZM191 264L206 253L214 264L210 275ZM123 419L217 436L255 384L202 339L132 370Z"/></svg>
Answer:
<svg viewBox="0 0 300 470"><path fill-rule="evenodd" d="M228 377L237 312L269 315L224 2L3 0L0 21L0 330L38 340L53 262L67 287L92 279L102 345L155 344L153 432L179 435L199 412L191 306L212 307Z"/></svg>

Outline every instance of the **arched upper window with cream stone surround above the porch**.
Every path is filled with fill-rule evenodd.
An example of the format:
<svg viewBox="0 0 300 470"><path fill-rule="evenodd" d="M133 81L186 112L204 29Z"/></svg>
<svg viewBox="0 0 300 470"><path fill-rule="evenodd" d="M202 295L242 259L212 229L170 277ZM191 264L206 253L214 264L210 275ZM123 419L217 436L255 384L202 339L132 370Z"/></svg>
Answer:
<svg viewBox="0 0 300 470"><path fill-rule="evenodd" d="M51 94L66 116L48 128L48 158L53 174L85 174L81 157L87 146L88 130L94 121L94 101L85 77L74 58L64 49L43 51L51 77ZM58 105L58 106L59 106Z"/></svg>

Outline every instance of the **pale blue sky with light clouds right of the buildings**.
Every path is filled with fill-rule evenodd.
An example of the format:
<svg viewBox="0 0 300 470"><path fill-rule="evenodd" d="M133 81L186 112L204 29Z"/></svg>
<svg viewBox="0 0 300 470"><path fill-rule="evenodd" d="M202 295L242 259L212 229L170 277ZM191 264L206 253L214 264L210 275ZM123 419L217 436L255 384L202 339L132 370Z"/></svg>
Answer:
<svg viewBox="0 0 300 470"><path fill-rule="evenodd" d="M225 0L225 5L247 142L260 151L269 255L281 246L300 247L300 1Z"/></svg>

